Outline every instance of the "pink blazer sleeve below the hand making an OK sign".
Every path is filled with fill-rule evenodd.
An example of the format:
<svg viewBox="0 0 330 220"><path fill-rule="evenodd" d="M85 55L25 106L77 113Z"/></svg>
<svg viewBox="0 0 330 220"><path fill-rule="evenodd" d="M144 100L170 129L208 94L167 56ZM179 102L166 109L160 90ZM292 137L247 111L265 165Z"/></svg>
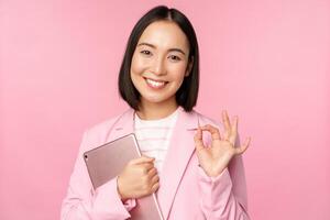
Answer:
<svg viewBox="0 0 330 220"><path fill-rule="evenodd" d="M237 145L240 145L238 138ZM217 177L198 166L200 208L208 220L250 220L244 166L241 155Z"/></svg>

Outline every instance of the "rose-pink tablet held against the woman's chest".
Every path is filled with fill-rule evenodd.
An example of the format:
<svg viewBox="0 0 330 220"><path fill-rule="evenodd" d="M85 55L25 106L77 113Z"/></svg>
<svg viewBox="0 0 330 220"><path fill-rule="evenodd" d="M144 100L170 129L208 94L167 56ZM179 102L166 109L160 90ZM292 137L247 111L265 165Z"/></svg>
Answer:
<svg viewBox="0 0 330 220"><path fill-rule="evenodd" d="M129 161L141 156L135 135L129 134L84 153L94 188L118 176ZM163 220L155 194L136 199L132 220Z"/></svg>

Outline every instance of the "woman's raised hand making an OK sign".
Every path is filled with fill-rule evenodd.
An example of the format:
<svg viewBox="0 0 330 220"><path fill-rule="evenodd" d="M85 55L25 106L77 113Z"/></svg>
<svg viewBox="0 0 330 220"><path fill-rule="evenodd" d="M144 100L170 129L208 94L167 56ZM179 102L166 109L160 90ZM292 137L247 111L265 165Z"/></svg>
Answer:
<svg viewBox="0 0 330 220"><path fill-rule="evenodd" d="M251 138L248 138L243 146L235 147L239 118L234 117L233 123L231 124L227 111L223 111L222 121L224 124L223 135L220 135L217 128L207 124L198 128L194 139L199 165L208 176L212 177L221 174L234 155L243 154L251 141ZM211 146L205 146L202 142L202 131L211 133Z"/></svg>

